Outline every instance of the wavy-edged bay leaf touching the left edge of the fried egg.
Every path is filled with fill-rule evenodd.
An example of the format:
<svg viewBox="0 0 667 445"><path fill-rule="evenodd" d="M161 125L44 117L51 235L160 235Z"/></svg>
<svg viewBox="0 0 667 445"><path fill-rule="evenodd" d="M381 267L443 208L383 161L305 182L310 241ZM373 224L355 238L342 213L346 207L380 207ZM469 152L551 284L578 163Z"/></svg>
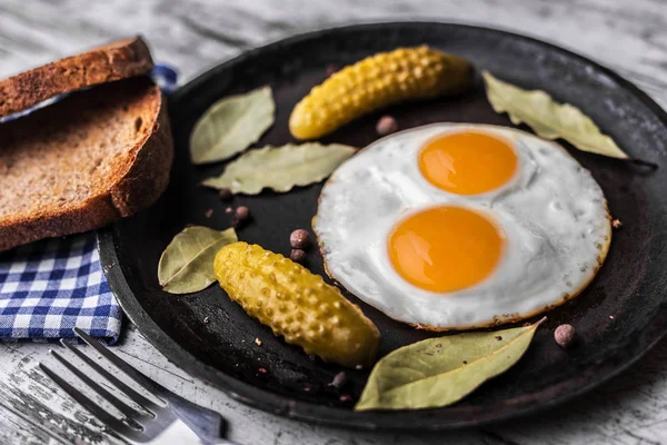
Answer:
<svg viewBox="0 0 667 445"><path fill-rule="evenodd" d="M354 147L338 144L265 147L243 154L230 162L222 175L208 178L202 185L246 195L257 195L263 188L289 191L295 186L321 181L355 152Z"/></svg>

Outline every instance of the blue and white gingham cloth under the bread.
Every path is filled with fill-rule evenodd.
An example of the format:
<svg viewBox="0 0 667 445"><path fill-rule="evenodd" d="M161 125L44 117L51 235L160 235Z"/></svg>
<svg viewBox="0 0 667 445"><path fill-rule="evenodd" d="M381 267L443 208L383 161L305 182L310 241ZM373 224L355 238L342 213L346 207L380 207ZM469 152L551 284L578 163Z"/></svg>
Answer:
<svg viewBox="0 0 667 445"><path fill-rule="evenodd" d="M158 65L151 75L166 92L176 86L176 72L169 67ZM0 253L0 339L73 337L77 326L113 344L121 322L94 233Z"/></svg>

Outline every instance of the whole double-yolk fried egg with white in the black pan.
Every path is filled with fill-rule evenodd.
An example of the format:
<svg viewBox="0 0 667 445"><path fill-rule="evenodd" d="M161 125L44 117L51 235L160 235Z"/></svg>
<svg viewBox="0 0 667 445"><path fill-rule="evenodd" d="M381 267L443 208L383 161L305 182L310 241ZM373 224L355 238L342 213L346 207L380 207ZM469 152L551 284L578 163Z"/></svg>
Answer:
<svg viewBox="0 0 667 445"><path fill-rule="evenodd" d="M325 185L327 274L432 330L517 322L578 295L611 239L601 188L558 144L486 125L379 139Z"/></svg>

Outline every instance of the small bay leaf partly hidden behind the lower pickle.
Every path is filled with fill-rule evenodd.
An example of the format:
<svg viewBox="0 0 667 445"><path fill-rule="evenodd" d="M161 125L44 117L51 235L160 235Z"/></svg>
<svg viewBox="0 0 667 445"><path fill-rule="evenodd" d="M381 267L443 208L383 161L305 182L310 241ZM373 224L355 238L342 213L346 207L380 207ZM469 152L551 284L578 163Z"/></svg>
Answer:
<svg viewBox="0 0 667 445"><path fill-rule="evenodd" d="M158 264L158 280L165 291L190 294L216 280L213 259L222 246L238 241L233 229L213 230L190 226L173 237Z"/></svg>

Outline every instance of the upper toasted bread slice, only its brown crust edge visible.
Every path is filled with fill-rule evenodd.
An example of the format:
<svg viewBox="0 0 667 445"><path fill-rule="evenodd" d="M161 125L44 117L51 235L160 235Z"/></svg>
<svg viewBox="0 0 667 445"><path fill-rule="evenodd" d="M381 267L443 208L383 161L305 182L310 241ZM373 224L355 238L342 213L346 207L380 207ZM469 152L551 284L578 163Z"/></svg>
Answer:
<svg viewBox="0 0 667 445"><path fill-rule="evenodd" d="M0 118L63 92L147 73L153 61L140 37L118 40L0 80Z"/></svg>

